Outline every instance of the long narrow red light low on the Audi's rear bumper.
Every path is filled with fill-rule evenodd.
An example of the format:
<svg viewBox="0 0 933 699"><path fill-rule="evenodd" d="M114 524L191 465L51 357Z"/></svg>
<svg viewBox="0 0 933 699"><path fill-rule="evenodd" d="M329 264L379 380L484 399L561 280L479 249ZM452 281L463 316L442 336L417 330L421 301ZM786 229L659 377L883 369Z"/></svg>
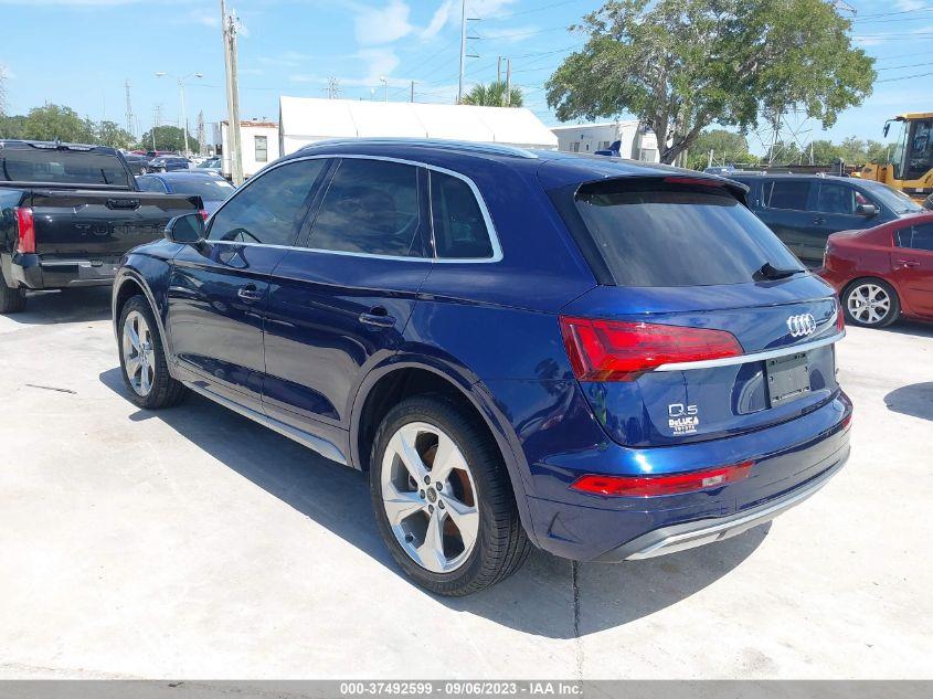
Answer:
<svg viewBox="0 0 933 699"><path fill-rule="evenodd" d="M608 497L677 495L744 480L754 465L754 462L742 462L732 466L659 476L581 476L570 487L580 493Z"/></svg>

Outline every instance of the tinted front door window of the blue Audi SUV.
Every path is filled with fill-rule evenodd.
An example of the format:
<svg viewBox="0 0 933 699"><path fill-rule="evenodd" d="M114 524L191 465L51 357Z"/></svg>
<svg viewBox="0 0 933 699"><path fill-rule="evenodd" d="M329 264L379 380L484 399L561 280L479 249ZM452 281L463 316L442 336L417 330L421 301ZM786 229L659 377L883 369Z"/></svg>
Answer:
<svg viewBox="0 0 933 699"><path fill-rule="evenodd" d="M326 160L301 160L257 177L214 214L209 240L294 244L326 165Z"/></svg>

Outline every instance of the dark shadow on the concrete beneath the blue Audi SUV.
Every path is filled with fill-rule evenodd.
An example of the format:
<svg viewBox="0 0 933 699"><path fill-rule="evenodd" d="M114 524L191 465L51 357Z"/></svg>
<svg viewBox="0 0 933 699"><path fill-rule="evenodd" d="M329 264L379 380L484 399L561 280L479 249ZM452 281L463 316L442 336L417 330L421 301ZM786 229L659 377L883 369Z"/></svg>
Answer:
<svg viewBox="0 0 933 699"><path fill-rule="evenodd" d="M99 379L127 396L118 368ZM139 410L130 416L132 421L152 419L405 579L379 537L364 474L200 395L192 394L170 410ZM767 531L766 525L713 546L615 565L572 564L536 550L515 575L477 594L460 599L424 594L450 610L528 634L574 638L627 624L689 597L736 568Z"/></svg>

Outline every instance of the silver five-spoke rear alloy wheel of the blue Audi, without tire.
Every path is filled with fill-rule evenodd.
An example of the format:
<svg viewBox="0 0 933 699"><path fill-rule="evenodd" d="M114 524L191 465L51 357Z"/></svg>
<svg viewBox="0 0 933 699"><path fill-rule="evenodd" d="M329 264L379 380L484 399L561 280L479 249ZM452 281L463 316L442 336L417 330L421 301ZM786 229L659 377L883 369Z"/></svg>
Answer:
<svg viewBox="0 0 933 699"><path fill-rule="evenodd" d="M469 558L479 532L476 484L453 438L424 422L392 435L382 462L382 502L402 550L433 573Z"/></svg>

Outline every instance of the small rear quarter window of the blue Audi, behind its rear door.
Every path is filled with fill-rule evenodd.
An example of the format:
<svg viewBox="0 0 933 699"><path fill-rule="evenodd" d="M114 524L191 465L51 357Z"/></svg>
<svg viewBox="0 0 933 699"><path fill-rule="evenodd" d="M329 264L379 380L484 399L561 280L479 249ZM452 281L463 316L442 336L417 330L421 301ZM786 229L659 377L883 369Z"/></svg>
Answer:
<svg viewBox="0 0 933 699"><path fill-rule="evenodd" d="M432 170L431 211L437 257L492 257L492 243L489 240L486 219L473 189L464 180Z"/></svg>

